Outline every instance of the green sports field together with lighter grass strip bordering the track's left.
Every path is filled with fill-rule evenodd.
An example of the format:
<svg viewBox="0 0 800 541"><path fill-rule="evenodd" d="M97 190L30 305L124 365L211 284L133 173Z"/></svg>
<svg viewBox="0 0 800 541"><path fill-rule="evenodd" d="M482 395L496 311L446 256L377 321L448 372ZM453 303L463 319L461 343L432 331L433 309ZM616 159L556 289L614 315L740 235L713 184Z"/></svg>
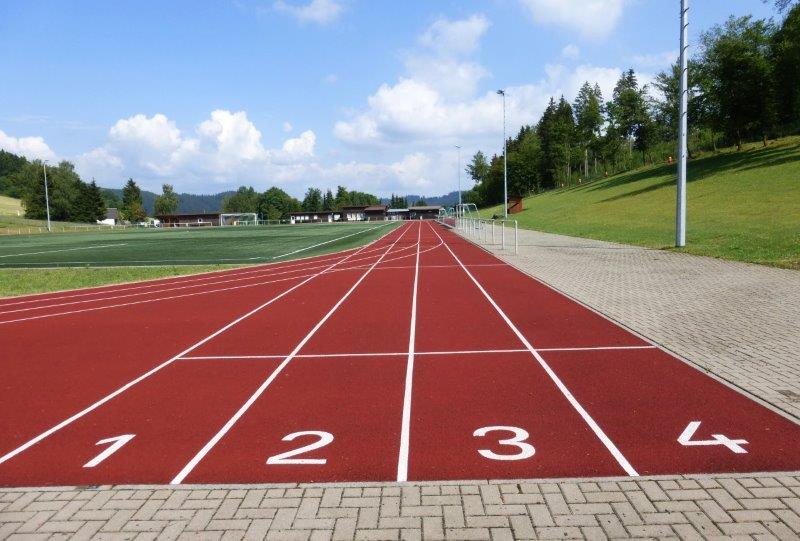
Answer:
<svg viewBox="0 0 800 541"><path fill-rule="evenodd" d="M0 297L287 261L360 246L396 225L362 222L0 236ZM274 259L294 251L298 252Z"/></svg>

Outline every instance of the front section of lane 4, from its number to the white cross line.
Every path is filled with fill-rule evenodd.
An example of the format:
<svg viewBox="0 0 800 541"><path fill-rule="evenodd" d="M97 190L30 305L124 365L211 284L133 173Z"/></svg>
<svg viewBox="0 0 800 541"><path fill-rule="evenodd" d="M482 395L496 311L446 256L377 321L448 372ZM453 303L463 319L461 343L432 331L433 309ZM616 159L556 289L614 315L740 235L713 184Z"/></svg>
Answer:
<svg viewBox="0 0 800 541"><path fill-rule="evenodd" d="M642 475L800 470L800 426L659 349L544 355ZM682 445L692 422L747 452Z"/></svg>

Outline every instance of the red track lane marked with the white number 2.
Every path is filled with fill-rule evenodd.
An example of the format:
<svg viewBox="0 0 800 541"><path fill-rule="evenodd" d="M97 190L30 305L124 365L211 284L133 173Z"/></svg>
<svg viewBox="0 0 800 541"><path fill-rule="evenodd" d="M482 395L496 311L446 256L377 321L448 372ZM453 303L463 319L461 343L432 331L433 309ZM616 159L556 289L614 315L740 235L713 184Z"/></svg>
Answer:
<svg viewBox="0 0 800 541"><path fill-rule="evenodd" d="M416 246L420 231L420 224L405 227L404 244ZM384 260L390 258L391 253ZM375 272L365 275L346 298L340 294L345 300L334 311L329 310L329 315L318 318L324 324L300 342L295 354L286 357L291 363L270 376L274 380L269 387L224 437L184 477L178 476L173 482L367 481L394 477L405 370L402 362L388 356L294 357L320 351L367 353L405 347L414 273L409 269L377 272L382 264L377 262L372 267ZM272 347L258 337L242 340L262 350ZM319 435L312 434L285 440L303 432L325 433L333 438L324 447L297 457L315 463L267 463L269 457L320 441Z"/></svg>

